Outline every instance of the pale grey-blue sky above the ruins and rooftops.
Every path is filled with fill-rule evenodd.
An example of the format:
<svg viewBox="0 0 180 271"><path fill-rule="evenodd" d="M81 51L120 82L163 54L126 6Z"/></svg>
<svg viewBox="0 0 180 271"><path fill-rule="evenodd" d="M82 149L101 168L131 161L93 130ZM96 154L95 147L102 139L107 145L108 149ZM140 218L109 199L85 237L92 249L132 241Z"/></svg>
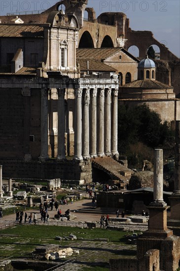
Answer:
<svg viewBox="0 0 180 271"><path fill-rule="evenodd" d="M0 15L44 10L56 0L0 0ZM103 12L123 12L132 30L147 30L180 57L180 0L89 0L96 17ZM157 49L158 50L158 49Z"/></svg>

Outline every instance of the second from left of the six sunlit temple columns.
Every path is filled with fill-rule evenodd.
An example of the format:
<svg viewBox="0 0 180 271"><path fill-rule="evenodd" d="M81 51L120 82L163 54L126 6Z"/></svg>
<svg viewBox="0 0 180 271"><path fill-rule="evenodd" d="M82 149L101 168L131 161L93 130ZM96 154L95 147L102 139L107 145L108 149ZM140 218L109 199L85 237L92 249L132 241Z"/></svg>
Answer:
<svg viewBox="0 0 180 271"><path fill-rule="evenodd" d="M84 91L83 97L83 120L82 120L82 157L90 158L89 155L89 93L90 89Z"/></svg>

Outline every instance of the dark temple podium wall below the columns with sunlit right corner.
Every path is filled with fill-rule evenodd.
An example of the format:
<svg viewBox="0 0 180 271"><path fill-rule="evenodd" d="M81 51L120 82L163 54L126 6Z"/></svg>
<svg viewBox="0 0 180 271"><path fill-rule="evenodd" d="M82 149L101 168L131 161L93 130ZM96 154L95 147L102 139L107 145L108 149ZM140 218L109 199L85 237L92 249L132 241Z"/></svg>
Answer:
<svg viewBox="0 0 180 271"><path fill-rule="evenodd" d="M24 162L1 160L4 178L65 179L92 181L92 166L83 161Z"/></svg>

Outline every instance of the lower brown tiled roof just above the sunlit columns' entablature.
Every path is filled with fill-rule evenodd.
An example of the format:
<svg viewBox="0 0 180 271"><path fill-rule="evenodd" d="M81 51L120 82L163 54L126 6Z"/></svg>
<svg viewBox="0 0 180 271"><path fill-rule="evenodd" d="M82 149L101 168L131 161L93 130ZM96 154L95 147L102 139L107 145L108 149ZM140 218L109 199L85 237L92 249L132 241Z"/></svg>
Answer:
<svg viewBox="0 0 180 271"><path fill-rule="evenodd" d="M89 62L89 68L87 68L87 61ZM101 60L94 58L76 58L76 63L80 65L80 70L91 70L91 71L116 71Z"/></svg>

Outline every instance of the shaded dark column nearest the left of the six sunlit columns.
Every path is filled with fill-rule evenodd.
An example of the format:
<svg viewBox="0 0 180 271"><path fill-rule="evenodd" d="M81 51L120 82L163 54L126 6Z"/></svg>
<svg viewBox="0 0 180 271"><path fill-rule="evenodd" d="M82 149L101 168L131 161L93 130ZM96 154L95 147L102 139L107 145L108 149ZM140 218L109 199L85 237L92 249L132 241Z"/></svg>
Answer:
<svg viewBox="0 0 180 271"><path fill-rule="evenodd" d="M65 89L58 91L58 153L57 160L65 159Z"/></svg>

